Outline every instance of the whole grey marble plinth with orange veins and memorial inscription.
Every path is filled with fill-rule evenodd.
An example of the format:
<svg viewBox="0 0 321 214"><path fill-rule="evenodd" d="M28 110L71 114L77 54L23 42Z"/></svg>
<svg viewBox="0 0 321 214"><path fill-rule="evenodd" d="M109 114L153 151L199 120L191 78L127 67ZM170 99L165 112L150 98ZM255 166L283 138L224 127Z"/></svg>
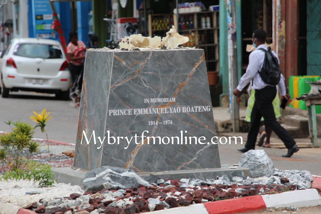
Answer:
<svg viewBox="0 0 321 214"><path fill-rule="evenodd" d="M87 51L74 167L219 168L215 136L203 50Z"/></svg>

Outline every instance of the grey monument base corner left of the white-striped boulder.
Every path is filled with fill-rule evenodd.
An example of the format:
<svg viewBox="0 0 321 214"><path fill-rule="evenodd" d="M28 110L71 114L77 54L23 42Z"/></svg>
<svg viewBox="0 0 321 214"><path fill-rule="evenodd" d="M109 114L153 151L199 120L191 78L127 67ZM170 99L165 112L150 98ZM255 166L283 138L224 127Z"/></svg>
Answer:
<svg viewBox="0 0 321 214"><path fill-rule="evenodd" d="M85 178L85 174L87 171L80 169L80 171L76 171L71 167L59 167L52 168L54 173L54 179L57 183L65 183L71 185L78 185L82 188L82 182Z"/></svg>

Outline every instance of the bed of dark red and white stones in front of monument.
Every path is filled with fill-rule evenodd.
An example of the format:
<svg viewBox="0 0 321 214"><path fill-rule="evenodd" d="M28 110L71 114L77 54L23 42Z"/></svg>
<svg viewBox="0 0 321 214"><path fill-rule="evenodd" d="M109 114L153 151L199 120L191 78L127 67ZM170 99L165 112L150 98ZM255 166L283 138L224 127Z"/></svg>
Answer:
<svg viewBox="0 0 321 214"><path fill-rule="evenodd" d="M279 177L284 175L289 179ZM139 184L128 189L90 190L71 193L69 197L66 193L60 195L60 198L46 197L40 201L30 201L25 208L42 210L45 214L68 210L73 214L80 211L86 211L87 214L140 213L228 198L306 189L311 188L311 181L312 175L307 171L278 169L275 169L271 177L247 177L245 180L233 177L230 181L227 175L206 181L159 179L149 186Z"/></svg>

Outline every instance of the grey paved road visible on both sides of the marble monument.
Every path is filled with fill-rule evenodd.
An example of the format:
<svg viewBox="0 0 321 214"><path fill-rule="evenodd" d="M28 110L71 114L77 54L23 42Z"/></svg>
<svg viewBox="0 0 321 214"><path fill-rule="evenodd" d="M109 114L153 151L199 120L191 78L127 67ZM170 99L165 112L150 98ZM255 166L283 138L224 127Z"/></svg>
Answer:
<svg viewBox="0 0 321 214"><path fill-rule="evenodd" d="M30 115L33 114L32 111L40 113L44 108L51 111L50 115L53 116L48 121L49 126L46 127L49 139L75 143L79 108L73 107L71 101L56 100L56 98L48 94L13 92L10 98L0 97L0 131L10 131L10 127L2 121L21 120L35 124L29 119ZM46 135L41 133L40 128L37 128L34 137L45 139ZM237 145L219 144L221 163L237 164L242 157L242 153L236 149L243 146L244 144L240 145L240 142ZM256 149L261 148L257 147ZM286 149L265 148L264 150L278 169L309 170L314 175L321 175L320 148L300 149L292 158L281 157L282 154L287 152Z"/></svg>

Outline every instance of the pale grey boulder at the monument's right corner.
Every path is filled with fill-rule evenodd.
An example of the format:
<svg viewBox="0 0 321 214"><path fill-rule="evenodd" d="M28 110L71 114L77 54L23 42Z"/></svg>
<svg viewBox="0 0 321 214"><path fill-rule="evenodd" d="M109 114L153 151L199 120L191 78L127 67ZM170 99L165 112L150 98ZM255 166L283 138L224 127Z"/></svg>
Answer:
<svg viewBox="0 0 321 214"><path fill-rule="evenodd" d="M243 153L239 165L250 168L251 178L270 177L274 173L272 160L264 150L249 150Z"/></svg>

